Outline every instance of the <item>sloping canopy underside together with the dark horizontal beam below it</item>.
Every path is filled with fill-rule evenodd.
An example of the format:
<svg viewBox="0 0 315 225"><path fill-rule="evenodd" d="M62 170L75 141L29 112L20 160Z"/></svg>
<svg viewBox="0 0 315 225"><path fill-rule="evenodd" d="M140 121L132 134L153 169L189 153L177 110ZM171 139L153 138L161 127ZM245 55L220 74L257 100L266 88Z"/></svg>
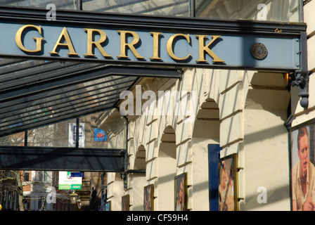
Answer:
<svg viewBox="0 0 315 225"><path fill-rule="evenodd" d="M174 68L44 60L2 59L0 71L0 136L25 131L25 139L27 129L117 108L120 93L140 77L181 77ZM126 153L78 145L0 146L0 168L124 172Z"/></svg>

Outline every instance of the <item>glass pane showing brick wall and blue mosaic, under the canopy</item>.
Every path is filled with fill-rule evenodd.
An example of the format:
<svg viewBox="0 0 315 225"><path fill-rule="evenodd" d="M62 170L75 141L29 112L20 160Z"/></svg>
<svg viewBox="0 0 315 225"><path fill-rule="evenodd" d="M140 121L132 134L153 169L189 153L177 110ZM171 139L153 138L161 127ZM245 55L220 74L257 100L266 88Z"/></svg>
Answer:
<svg viewBox="0 0 315 225"><path fill-rule="evenodd" d="M105 131L97 127L95 121L101 113L94 113L85 117L80 117L80 127L82 127L82 140L79 147L82 148L107 148L108 139Z"/></svg>

